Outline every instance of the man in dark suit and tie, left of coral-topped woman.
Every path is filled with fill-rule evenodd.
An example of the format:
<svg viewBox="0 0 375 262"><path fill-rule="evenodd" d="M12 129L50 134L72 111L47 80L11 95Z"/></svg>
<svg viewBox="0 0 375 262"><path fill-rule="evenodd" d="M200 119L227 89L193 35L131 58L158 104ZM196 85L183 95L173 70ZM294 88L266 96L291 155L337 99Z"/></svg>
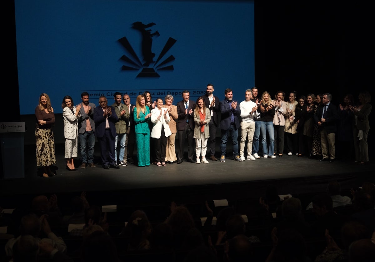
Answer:
<svg viewBox="0 0 375 262"><path fill-rule="evenodd" d="M177 102L177 132L178 132L178 159L177 164L184 161L184 145L185 135L187 137L187 161L195 163L193 160L194 155L194 116L193 110L195 109L195 102L189 100L190 92L187 90L182 91L183 100Z"/></svg>

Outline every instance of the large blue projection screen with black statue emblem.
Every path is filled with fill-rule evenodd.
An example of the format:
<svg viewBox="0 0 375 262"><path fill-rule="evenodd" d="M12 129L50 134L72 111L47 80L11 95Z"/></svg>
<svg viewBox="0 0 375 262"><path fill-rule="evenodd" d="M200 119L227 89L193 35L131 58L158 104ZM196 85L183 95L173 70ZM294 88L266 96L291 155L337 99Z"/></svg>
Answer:
<svg viewBox="0 0 375 262"><path fill-rule="evenodd" d="M252 1L15 0L15 18L22 115L42 92L62 113L63 97L78 104L83 91L95 104L145 90L176 104L213 83L242 101L255 83Z"/></svg>

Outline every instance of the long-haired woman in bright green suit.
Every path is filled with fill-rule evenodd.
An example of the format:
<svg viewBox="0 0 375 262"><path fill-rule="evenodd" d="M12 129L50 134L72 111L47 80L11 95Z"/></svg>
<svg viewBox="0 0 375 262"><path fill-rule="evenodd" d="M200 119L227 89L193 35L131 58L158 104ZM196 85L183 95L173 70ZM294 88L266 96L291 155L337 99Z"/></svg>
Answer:
<svg viewBox="0 0 375 262"><path fill-rule="evenodd" d="M148 122L151 113L148 106L145 106L145 98L138 95L136 107L133 109L135 139L137 142L138 167L148 167L150 165L150 128Z"/></svg>

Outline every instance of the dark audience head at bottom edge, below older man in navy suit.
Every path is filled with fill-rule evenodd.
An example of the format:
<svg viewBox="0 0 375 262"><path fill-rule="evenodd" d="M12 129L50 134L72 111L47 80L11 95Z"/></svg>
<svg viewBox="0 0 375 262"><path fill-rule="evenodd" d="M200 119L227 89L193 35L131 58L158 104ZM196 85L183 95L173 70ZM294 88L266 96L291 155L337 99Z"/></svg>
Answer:
<svg viewBox="0 0 375 262"><path fill-rule="evenodd" d="M116 246L105 232L95 231L84 241L81 248L82 261L118 262Z"/></svg>

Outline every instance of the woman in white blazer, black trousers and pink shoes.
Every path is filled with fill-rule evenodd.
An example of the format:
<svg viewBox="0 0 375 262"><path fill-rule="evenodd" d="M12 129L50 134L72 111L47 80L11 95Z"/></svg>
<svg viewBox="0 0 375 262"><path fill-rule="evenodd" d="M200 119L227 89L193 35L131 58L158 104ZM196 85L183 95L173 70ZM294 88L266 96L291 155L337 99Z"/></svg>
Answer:
<svg viewBox="0 0 375 262"><path fill-rule="evenodd" d="M171 135L171 130L169 129L169 118L168 109L162 107L163 100L161 98L156 98L156 107L151 110L151 122L154 124L151 137L155 138L155 157L156 165L158 167L166 166L165 164L165 153L166 153L166 143L168 142L168 137Z"/></svg>

